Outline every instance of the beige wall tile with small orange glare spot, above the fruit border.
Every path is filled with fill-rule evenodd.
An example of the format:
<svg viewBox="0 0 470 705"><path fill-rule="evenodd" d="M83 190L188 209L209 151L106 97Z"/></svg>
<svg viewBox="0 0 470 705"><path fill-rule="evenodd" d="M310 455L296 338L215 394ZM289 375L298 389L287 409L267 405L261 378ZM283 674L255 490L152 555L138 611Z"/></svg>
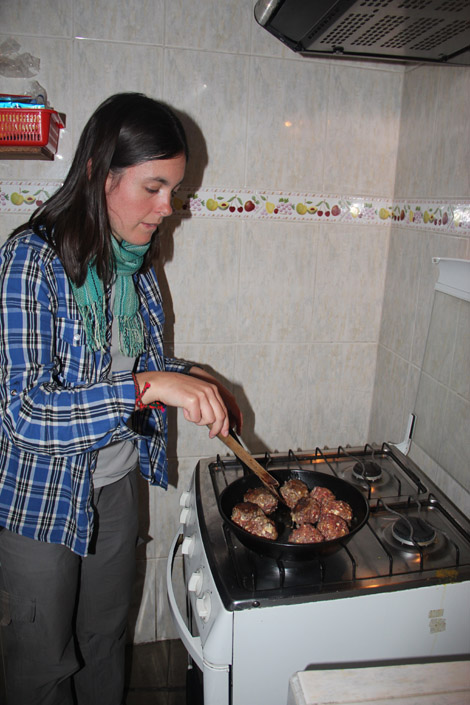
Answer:
<svg viewBox="0 0 470 705"><path fill-rule="evenodd" d="M300 60L252 59L248 187L321 191L329 70Z"/></svg>

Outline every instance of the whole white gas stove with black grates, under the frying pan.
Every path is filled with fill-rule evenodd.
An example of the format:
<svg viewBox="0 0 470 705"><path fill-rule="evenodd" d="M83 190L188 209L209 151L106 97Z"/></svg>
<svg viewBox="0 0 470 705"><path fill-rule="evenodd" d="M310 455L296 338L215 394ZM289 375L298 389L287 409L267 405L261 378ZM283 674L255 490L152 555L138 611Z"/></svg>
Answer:
<svg viewBox="0 0 470 705"><path fill-rule="evenodd" d="M167 584L180 636L203 673L204 705L285 705L290 675L309 664L470 653L470 521L396 446L255 457L274 473L345 480L367 500L369 516L333 555L262 555L220 511L242 464L232 456L199 461L174 541L174 551L182 545L188 621L174 599L171 559Z"/></svg>

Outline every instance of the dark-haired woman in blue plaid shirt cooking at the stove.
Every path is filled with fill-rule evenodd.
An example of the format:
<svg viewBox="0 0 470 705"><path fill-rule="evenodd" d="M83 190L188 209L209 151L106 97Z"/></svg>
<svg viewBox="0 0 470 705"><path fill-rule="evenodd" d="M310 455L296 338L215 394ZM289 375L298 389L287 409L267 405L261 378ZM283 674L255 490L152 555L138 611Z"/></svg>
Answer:
<svg viewBox="0 0 470 705"><path fill-rule="evenodd" d="M166 406L228 434L233 395L163 353L151 267L188 149L173 111L106 100L63 187L0 250L0 622L10 705L119 705L136 468L167 486Z"/></svg>

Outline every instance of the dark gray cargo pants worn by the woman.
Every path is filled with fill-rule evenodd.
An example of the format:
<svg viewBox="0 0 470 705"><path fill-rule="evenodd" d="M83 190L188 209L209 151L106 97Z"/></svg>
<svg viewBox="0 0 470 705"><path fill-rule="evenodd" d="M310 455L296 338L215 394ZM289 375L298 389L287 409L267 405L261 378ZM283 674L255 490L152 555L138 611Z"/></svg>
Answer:
<svg viewBox="0 0 470 705"><path fill-rule="evenodd" d="M7 705L121 705L135 575L137 475L95 491L96 545L0 531Z"/></svg>

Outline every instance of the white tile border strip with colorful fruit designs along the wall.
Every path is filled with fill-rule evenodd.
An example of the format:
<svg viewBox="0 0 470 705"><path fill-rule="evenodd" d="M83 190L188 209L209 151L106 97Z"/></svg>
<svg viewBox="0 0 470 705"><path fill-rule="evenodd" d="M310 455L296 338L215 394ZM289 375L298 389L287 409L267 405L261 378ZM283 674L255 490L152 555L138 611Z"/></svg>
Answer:
<svg viewBox="0 0 470 705"><path fill-rule="evenodd" d="M0 214L33 212L59 187L58 181L0 181ZM470 234L470 203L395 202L389 199L282 191L181 189L173 199L175 215L196 218L254 219L295 222L342 222Z"/></svg>

